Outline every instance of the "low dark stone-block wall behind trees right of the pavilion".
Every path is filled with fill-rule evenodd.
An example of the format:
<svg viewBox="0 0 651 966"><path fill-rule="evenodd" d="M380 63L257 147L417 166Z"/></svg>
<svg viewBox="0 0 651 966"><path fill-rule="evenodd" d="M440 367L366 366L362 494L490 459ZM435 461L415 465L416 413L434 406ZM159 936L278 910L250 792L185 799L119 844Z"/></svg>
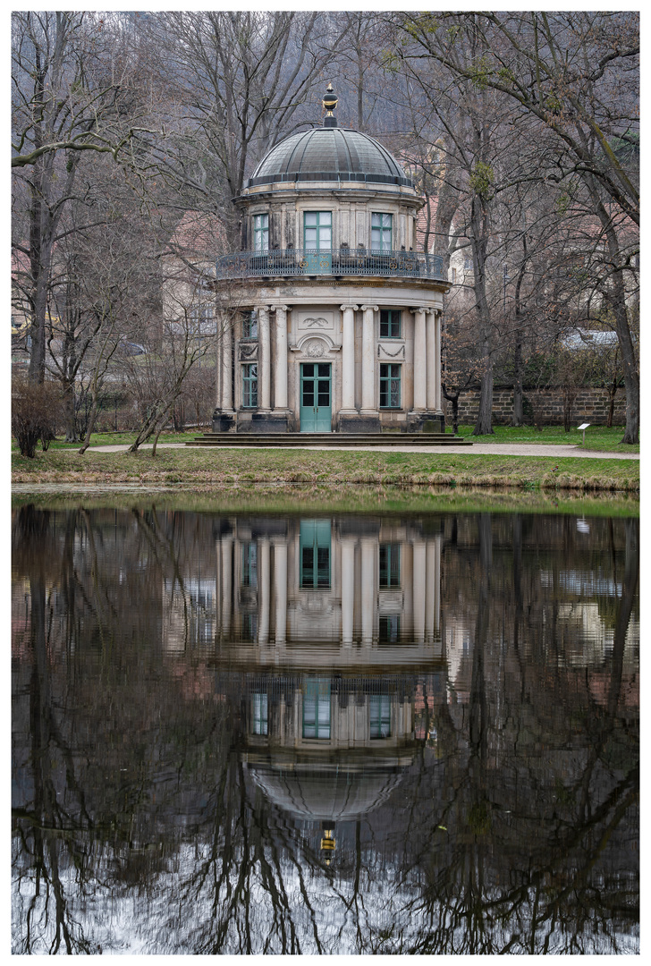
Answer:
<svg viewBox="0 0 651 966"><path fill-rule="evenodd" d="M452 406L445 401L445 422L452 422ZM479 389L467 389L459 399L459 422L472 425L479 410ZM540 412L541 422L549 426L563 424L563 390L524 390L524 422L533 425L534 412ZM493 421L496 426L509 425L513 415L513 389L511 386L495 386L493 390ZM605 426L609 415L609 394L606 389L581 388L572 406L572 422L589 422L593 426ZM626 396L618 389L612 417L614 426L626 422Z"/></svg>

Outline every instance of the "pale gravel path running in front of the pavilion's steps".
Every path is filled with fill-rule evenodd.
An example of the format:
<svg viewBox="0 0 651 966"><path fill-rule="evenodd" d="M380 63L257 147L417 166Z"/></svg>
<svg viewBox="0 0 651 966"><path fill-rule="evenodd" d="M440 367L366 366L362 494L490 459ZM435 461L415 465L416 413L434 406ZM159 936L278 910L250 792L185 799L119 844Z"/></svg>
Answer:
<svg viewBox="0 0 651 966"><path fill-rule="evenodd" d="M91 446L95 452L101 453L120 453L128 449L126 444L115 446ZM146 443L142 449L151 449L152 443ZM207 449L206 446L185 446L184 442L159 442L158 449ZM224 447L226 449L238 449L237 446ZM242 446L242 449L249 447ZM281 446L256 446L256 449L282 449ZM365 452L380 453L431 453L435 456L442 456L444 453L461 453L471 456L472 453L488 456L551 456L556 459L559 456L581 456L584 459L593 460L638 460L639 453L611 453L598 450L580 449L579 446L555 445L553 443L520 443L520 442L473 442L472 446L310 446L304 447L288 446L287 449L321 449L321 450L357 450ZM215 450L219 447L215 446ZM287 451L287 449L285 451Z"/></svg>

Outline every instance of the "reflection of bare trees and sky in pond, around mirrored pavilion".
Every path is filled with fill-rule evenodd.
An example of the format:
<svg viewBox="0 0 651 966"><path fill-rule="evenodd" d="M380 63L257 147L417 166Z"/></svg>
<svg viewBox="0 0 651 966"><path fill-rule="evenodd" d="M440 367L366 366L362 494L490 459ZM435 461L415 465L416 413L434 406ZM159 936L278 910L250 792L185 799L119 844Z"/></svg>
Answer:
<svg viewBox="0 0 651 966"><path fill-rule="evenodd" d="M600 566L621 582L599 690L536 631L537 575L549 566L557 584L560 566L542 540L532 549L540 522L456 524L444 579L472 619L467 701L414 676L429 737L386 804L341 824L325 867L319 823L270 803L242 765L243 678L156 649L162 580L183 585L188 541L208 554L214 521L20 511L14 952L120 949L134 934L148 952L590 952L596 935L600 952L625 951L637 522L595 527ZM594 557L554 526L563 566ZM111 903L132 908L128 931Z"/></svg>

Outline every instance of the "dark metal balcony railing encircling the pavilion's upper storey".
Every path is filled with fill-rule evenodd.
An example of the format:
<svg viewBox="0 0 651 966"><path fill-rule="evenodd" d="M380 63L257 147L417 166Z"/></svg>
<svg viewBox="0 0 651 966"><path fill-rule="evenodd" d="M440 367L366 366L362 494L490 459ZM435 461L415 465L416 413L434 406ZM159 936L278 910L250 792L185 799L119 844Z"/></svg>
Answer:
<svg viewBox="0 0 651 966"><path fill-rule="evenodd" d="M274 248L241 251L217 259L217 279L375 275L387 278L432 278L446 281L443 259L417 251L374 251L370 248Z"/></svg>

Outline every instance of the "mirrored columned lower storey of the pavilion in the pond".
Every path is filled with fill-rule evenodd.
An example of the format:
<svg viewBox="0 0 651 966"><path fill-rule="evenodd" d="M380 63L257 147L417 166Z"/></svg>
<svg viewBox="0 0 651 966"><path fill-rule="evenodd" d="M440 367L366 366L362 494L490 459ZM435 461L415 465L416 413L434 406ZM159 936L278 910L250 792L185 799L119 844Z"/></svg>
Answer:
<svg viewBox="0 0 651 966"><path fill-rule="evenodd" d="M440 535L382 520L239 521L221 537L217 625L241 660L440 656ZM315 649L315 644L322 645Z"/></svg>

